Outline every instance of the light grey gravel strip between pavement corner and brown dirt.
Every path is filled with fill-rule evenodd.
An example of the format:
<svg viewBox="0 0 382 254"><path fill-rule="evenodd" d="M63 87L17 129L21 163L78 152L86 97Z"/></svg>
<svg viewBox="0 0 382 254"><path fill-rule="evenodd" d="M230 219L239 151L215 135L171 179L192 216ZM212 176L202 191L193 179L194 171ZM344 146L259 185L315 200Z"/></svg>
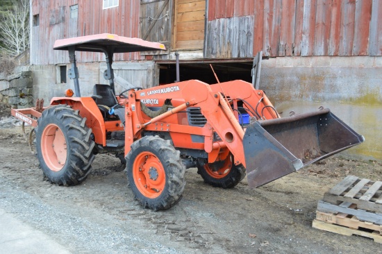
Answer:
<svg viewBox="0 0 382 254"><path fill-rule="evenodd" d="M0 179L0 189L1 208L19 214L19 219L42 232L53 232L53 235L59 232L66 248L74 253L179 253L159 242L148 241L140 230L131 232L126 226L113 223L113 218L97 210L87 211L92 217L99 216L94 221L77 217L74 210L49 205L6 180Z"/></svg>

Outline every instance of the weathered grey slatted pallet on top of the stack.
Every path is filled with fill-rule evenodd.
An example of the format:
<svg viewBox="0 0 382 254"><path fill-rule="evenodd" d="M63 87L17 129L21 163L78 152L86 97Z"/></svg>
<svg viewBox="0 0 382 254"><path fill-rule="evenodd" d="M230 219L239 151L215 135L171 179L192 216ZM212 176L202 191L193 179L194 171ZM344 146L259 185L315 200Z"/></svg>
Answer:
<svg viewBox="0 0 382 254"><path fill-rule="evenodd" d="M356 204L360 210L382 214L382 182L347 176L324 194L323 201L334 205Z"/></svg>

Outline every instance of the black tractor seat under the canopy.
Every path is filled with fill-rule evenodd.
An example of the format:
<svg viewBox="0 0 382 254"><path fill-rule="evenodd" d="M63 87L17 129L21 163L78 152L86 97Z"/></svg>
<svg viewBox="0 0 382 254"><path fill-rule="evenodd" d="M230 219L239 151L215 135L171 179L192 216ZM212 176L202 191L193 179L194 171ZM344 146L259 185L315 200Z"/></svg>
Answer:
<svg viewBox="0 0 382 254"><path fill-rule="evenodd" d="M92 96L92 98L101 111L103 118L107 119L109 115L108 111L110 108L118 105L118 101L115 98L113 90L111 90L110 85L96 84L93 87L93 94L94 96Z"/></svg>

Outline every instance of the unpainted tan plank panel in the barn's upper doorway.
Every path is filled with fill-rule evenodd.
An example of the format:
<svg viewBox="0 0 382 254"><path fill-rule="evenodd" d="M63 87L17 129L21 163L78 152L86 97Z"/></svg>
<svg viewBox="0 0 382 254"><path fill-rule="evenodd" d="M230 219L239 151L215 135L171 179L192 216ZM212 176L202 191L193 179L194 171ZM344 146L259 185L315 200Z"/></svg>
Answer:
<svg viewBox="0 0 382 254"><path fill-rule="evenodd" d="M175 0L174 49L203 49L206 0Z"/></svg>

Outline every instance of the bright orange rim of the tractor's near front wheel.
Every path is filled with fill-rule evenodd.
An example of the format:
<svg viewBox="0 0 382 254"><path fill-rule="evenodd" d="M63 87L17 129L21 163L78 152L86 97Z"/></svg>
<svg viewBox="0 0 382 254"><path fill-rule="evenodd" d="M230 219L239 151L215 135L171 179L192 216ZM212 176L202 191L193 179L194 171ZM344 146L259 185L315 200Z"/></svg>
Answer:
<svg viewBox="0 0 382 254"><path fill-rule="evenodd" d="M165 189L165 169L153 153L143 152L135 158L133 178L140 193L147 198L157 198Z"/></svg>

